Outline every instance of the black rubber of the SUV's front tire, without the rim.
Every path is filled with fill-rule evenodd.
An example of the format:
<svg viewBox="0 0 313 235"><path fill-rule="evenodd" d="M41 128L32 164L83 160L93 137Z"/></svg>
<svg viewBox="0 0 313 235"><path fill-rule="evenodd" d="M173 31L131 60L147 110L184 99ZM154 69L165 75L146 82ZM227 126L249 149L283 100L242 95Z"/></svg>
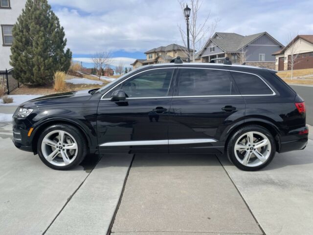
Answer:
<svg viewBox="0 0 313 235"><path fill-rule="evenodd" d="M77 142L77 155L76 158L73 160L73 162L71 162L70 164L64 165L64 166L59 166L59 165L54 165L49 163L43 154L42 151L42 141L45 138L45 136L52 132L52 131L57 131L57 130L62 130L62 131L66 131L67 133L69 133ZM47 127L43 133L40 135L39 139L38 139L38 144L37 144L37 152L38 155L41 159L41 161L47 165L48 167L55 169L55 170L69 170L74 168L75 166L77 166L78 164L80 164L84 158L86 157L87 154L87 143L85 138L83 137L82 133L76 128L73 127L71 125L67 125L67 124L54 124L51 125L49 127Z"/></svg>

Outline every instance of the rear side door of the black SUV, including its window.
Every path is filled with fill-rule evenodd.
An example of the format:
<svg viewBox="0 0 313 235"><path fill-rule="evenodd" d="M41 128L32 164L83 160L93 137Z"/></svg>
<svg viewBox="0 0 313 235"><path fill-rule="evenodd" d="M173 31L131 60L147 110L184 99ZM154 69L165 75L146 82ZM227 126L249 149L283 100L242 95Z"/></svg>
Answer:
<svg viewBox="0 0 313 235"><path fill-rule="evenodd" d="M180 68L169 118L170 153L221 153L221 135L245 117L229 71Z"/></svg>

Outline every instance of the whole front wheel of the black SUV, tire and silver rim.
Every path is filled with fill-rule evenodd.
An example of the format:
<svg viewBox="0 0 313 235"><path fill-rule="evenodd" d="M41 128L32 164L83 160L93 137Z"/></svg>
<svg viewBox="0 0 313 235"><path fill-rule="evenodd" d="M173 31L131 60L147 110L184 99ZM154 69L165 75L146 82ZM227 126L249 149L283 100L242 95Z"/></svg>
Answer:
<svg viewBox="0 0 313 235"><path fill-rule="evenodd" d="M43 163L50 168L67 170L84 160L86 148L86 141L77 128L56 124L43 131L37 151Z"/></svg>

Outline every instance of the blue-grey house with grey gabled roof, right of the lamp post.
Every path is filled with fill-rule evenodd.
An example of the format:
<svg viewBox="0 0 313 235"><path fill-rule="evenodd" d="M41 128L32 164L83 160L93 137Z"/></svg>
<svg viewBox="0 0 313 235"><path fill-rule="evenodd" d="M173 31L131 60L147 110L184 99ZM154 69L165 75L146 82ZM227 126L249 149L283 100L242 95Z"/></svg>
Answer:
<svg viewBox="0 0 313 235"><path fill-rule="evenodd" d="M243 36L216 32L198 52L196 62L223 63L229 57L233 64L275 69L275 51L284 46L267 32Z"/></svg>

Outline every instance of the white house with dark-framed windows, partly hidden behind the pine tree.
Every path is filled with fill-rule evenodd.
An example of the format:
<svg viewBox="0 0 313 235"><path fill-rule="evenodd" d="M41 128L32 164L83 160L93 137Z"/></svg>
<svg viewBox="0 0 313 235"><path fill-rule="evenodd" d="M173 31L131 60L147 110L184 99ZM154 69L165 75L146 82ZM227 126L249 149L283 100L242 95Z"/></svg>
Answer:
<svg viewBox="0 0 313 235"><path fill-rule="evenodd" d="M9 70L9 64L13 42L12 28L17 18L22 13L26 0L0 0L0 70Z"/></svg>

